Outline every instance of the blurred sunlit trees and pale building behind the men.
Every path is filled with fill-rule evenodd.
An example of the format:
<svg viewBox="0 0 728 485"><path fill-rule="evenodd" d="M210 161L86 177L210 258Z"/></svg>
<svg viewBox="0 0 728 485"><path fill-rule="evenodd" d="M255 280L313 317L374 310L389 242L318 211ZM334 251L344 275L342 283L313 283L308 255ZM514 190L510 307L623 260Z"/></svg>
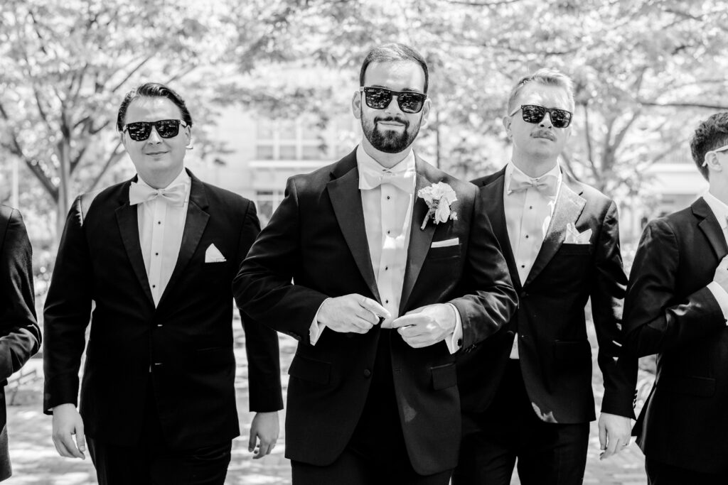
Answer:
<svg viewBox="0 0 728 485"><path fill-rule="evenodd" d="M726 39L721 0L3 0L0 203L25 218L41 308L71 202L135 173L119 103L159 81L194 120L187 167L265 224L287 177L355 147L361 61L400 41L430 65L416 151L466 179L507 163L518 78L571 76L562 167L617 201L629 267L645 223L707 188L689 137L728 110Z"/></svg>

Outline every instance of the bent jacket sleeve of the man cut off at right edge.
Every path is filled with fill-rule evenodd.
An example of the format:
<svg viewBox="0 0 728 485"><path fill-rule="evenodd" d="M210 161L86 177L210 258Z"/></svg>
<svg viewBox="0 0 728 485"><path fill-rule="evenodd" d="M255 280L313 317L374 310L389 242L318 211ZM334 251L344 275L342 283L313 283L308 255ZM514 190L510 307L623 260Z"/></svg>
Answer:
<svg viewBox="0 0 728 485"><path fill-rule="evenodd" d="M625 302L627 346L636 356L689 345L726 327L708 286L687 297L675 294L679 262L673 228L666 220L651 221L637 248Z"/></svg>

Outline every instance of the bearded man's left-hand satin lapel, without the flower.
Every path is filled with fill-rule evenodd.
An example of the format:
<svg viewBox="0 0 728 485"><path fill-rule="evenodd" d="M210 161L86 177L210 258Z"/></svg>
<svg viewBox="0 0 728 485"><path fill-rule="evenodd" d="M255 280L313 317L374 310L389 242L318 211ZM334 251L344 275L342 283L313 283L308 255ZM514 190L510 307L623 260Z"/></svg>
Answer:
<svg viewBox="0 0 728 485"><path fill-rule="evenodd" d="M369 254L369 244L364 225L362 197L359 191L359 172L356 164L341 177L331 180L326 184L326 188L331 198L333 213L339 222L339 228L341 228L341 233L344 234L344 240L347 241L349 251L352 252L352 256L357 263L357 268L359 268L359 272L376 300L381 301L371 265L371 254Z"/></svg>

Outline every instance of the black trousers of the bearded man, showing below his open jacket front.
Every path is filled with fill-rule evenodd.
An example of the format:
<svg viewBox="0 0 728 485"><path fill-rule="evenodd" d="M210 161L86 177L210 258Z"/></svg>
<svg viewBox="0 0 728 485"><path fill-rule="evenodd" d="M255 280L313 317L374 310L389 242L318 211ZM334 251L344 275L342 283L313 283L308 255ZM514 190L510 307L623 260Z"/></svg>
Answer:
<svg viewBox="0 0 728 485"><path fill-rule="evenodd" d="M291 461L293 485L447 485L452 470L422 476L412 468L397 411L389 340L381 329L364 411L344 452L328 466Z"/></svg>

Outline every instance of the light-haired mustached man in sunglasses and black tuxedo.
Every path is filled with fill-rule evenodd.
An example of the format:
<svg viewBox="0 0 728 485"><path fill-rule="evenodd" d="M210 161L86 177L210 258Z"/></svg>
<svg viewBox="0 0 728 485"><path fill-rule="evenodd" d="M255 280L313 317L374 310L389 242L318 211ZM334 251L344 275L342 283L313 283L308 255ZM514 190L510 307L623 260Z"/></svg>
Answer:
<svg viewBox="0 0 728 485"><path fill-rule="evenodd" d="M510 163L474 180L519 295L513 319L459 358L463 441L454 483L581 484L595 419L585 305L604 374L603 457L630 439L636 359L623 355L617 208L566 176L559 153L574 113L571 81L544 69L510 93Z"/></svg>

